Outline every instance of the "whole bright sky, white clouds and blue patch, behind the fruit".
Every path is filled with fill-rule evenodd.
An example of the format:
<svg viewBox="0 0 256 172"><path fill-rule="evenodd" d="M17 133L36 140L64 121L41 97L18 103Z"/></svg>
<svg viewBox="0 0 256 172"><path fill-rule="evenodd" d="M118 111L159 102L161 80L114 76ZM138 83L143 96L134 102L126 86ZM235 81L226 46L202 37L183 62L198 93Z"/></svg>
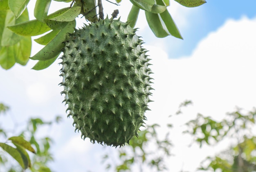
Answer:
<svg viewBox="0 0 256 172"><path fill-rule="evenodd" d="M123 0L124 1L124 0ZM57 5L58 4L58 5ZM131 7L129 1L115 6L104 2L105 13L110 16L119 9L119 16L125 22ZM53 3L51 11L67 7L69 4ZM30 18L33 18L33 2L29 3ZM251 110L256 102L256 1L220 1L207 0L206 4L196 8L182 7L171 0L168 11L171 13L183 40L169 36L156 38L148 27L143 11L135 27L137 34L146 42L144 47L154 72L155 89L146 112L149 124L160 124L157 130L163 137L166 124L174 124L171 140L174 148L169 162L169 171L181 169L195 171L204 157L215 155L224 146L191 147L191 137L182 135L184 125L195 118L197 113L209 115L216 120L225 117L225 113L236 107ZM83 26L78 19L78 26ZM31 56L40 50L33 44ZM55 161L51 163L56 172L99 172L104 171L101 164L102 152L115 153L115 148L83 141L80 133L74 133L73 120L66 118L62 104L64 99L58 86L62 78L58 76L60 60L42 71L31 70L36 63L29 61L26 66L15 65L10 70L0 69L0 102L11 107L9 115L0 116L0 124L13 128L15 122L24 123L31 117L52 120L61 115L63 122L50 130L41 131L41 135L54 138L52 152ZM192 100L193 106L184 110L181 117L169 118L177 111L184 100ZM3 121L4 120L4 121ZM226 145L227 146L227 145ZM196 158L195 158L196 156ZM70 158L72 157L72 158ZM70 165L72 164L72 165ZM134 169L134 172L139 172Z"/></svg>

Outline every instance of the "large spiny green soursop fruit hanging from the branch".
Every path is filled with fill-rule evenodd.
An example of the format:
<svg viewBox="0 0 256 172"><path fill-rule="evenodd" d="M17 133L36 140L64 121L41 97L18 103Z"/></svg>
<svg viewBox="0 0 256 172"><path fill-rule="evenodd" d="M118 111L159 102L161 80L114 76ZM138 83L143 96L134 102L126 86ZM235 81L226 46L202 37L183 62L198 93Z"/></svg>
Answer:
<svg viewBox="0 0 256 172"><path fill-rule="evenodd" d="M65 41L63 102L83 139L123 146L146 120L152 72L135 32L128 23L106 18Z"/></svg>

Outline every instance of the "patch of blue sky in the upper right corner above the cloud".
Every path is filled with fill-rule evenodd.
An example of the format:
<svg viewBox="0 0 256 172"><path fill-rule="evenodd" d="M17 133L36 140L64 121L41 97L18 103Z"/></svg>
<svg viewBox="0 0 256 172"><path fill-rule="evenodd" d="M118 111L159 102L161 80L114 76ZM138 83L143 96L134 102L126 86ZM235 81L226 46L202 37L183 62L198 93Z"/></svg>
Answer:
<svg viewBox="0 0 256 172"><path fill-rule="evenodd" d="M171 5L176 5L177 2L171 1ZM189 16L186 16L187 27L182 28L179 26L179 21L175 20L176 16L173 16L177 27L180 28L180 32L184 40L167 37L164 38L166 44L177 44L175 48L168 48L169 58L180 58L186 55L190 55L193 49L196 47L198 41L206 37L211 31L216 30L224 24L227 19L238 20L242 16L248 18L255 17L256 1L249 0L243 1L231 1L231 0L208 0L206 4L195 8L181 7L184 11L191 11ZM172 11L169 10L172 14ZM151 33L146 33L150 34ZM151 35L153 37L153 34Z"/></svg>

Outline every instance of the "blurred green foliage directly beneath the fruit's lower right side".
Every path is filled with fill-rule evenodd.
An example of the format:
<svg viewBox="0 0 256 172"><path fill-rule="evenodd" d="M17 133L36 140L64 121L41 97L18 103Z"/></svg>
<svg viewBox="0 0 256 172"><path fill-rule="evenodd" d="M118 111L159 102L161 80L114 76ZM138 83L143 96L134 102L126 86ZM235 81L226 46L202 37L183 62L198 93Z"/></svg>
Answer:
<svg viewBox="0 0 256 172"><path fill-rule="evenodd" d="M113 163L115 159L111 154L103 156L103 162L107 163L106 169L115 172L132 172L132 169L143 169L147 166L152 171L166 170L165 159L171 156L171 140L168 138L169 132L164 139L159 139L156 128L158 124L148 126L139 132L138 137L133 137L130 144L118 150L120 163ZM170 126L168 126L170 127ZM117 160L118 161L118 160Z"/></svg>

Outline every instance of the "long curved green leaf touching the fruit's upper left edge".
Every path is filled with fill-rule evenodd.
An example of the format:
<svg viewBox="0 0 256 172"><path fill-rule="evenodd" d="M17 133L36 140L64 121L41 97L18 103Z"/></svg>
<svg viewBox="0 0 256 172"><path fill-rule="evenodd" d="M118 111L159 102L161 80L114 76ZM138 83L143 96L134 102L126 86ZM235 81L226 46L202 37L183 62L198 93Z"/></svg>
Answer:
<svg viewBox="0 0 256 172"><path fill-rule="evenodd" d="M67 33L73 33L76 21L69 22L42 50L36 53L31 59L33 60L49 60L56 57L61 48L64 47L63 41L66 40Z"/></svg>

